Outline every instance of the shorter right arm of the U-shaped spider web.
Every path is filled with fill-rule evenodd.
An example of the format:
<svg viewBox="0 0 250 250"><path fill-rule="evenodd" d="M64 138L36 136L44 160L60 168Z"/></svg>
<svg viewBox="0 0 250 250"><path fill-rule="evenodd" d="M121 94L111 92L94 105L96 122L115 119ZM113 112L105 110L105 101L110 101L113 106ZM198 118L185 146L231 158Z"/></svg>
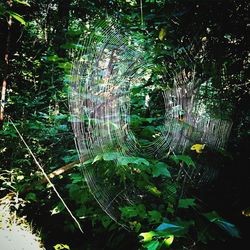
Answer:
<svg viewBox="0 0 250 250"><path fill-rule="evenodd" d="M174 77L174 87L164 93L166 127L170 128L170 147L183 153L192 144L206 144L211 148L224 148L232 122L215 119L200 98L200 82L195 71L183 70Z"/></svg>

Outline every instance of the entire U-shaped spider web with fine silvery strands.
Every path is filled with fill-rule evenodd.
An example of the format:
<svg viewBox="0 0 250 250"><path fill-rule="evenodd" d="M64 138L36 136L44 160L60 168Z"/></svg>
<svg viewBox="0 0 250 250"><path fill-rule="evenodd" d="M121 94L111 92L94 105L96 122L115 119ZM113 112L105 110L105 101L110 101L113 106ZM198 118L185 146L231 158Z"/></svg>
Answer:
<svg viewBox="0 0 250 250"><path fill-rule="evenodd" d="M195 73L185 71L176 74L173 88L163 93L165 121L160 136L147 146L139 143L130 128L130 89L143 81L147 63L143 50L132 46L114 25L96 26L80 40L72 57L69 107L83 175L97 202L117 223L119 208L142 197L126 178L129 174L140 178L139 174L120 164L126 157L161 158L167 152L183 153L194 143L225 145L231 123L209 116L198 98ZM106 152L112 153L107 156L112 161L95 165ZM94 159L93 164L84 164L88 159Z"/></svg>

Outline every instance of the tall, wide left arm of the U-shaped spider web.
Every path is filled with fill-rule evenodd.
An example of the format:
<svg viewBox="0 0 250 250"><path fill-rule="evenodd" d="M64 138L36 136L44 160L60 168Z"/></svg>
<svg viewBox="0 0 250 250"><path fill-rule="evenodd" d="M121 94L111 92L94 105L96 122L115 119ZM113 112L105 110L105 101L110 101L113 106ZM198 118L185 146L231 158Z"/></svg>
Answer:
<svg viewBox="0 0 250 250"><path fill-rule="evenodd" d="M80 160L84 162L109 151L123 155L129 120L128 91L130 84L140 79L141 55L125 45L113 26L105 24L97 26L79 47L82 51L73 52L76 60L71 72L69 104ZM100 206L118 222L118 208L124 201L132 202L131 191L126 183L117 183L119 178L105 179L103 173L108 171L120 175L126 171L112 163L102 169L84 166L83 174Z"/></svg>

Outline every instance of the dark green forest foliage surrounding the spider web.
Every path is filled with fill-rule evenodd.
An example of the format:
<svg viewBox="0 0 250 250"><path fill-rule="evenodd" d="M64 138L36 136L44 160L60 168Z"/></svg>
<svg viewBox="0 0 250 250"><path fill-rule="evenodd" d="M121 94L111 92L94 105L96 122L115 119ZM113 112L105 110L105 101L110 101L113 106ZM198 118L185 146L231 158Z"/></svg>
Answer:
<svg viewBox="0 0 250 250"><path fill-rule="evenodd" d="M1 0L0 198L12 193L26 201L17 212L41 231L46 249L56 249L59 243L67 245L61 249L76 250L247 249L249 5L248 0ZM211 83L206 96L211 112L220 110L233 121L226 150L204 151L200 156L204 164L216 168L216 177L202 185L186 185L183 197L178 192L182 183L175 181L175 191L167 190L169 172L161 168L159 179L155 178L159 162L147 159L153 174L146 171L145 183L138 185L150 183L153 198L121 208L130 232L101 210L82 181L69 122L66 76L71 68L70 50L89 26L107 17L114 17L120 33L143 46L146 58L155 65L147 88L139 89L144 95L132 93L135 109L142 109L140 101L146 94L154 100L151 114L137 113L135 131L155 132L147 118L163 115L157 96L167 85L155 75L171 75L180 67L195 68L202 81ZM84 218L79 219L84 235L50 185L41 181L43 176L10 119L46 173L62 170L52 181L76 217ZM145 137L145 133L138 136ZM189 152L186 158L162 164L170 170L183 161L188 167L196 158L195 152ZM159 225L185 230L167 226L159 235ZM143 232L149 233L144 234L144 242L139 237Z"/></svg>

